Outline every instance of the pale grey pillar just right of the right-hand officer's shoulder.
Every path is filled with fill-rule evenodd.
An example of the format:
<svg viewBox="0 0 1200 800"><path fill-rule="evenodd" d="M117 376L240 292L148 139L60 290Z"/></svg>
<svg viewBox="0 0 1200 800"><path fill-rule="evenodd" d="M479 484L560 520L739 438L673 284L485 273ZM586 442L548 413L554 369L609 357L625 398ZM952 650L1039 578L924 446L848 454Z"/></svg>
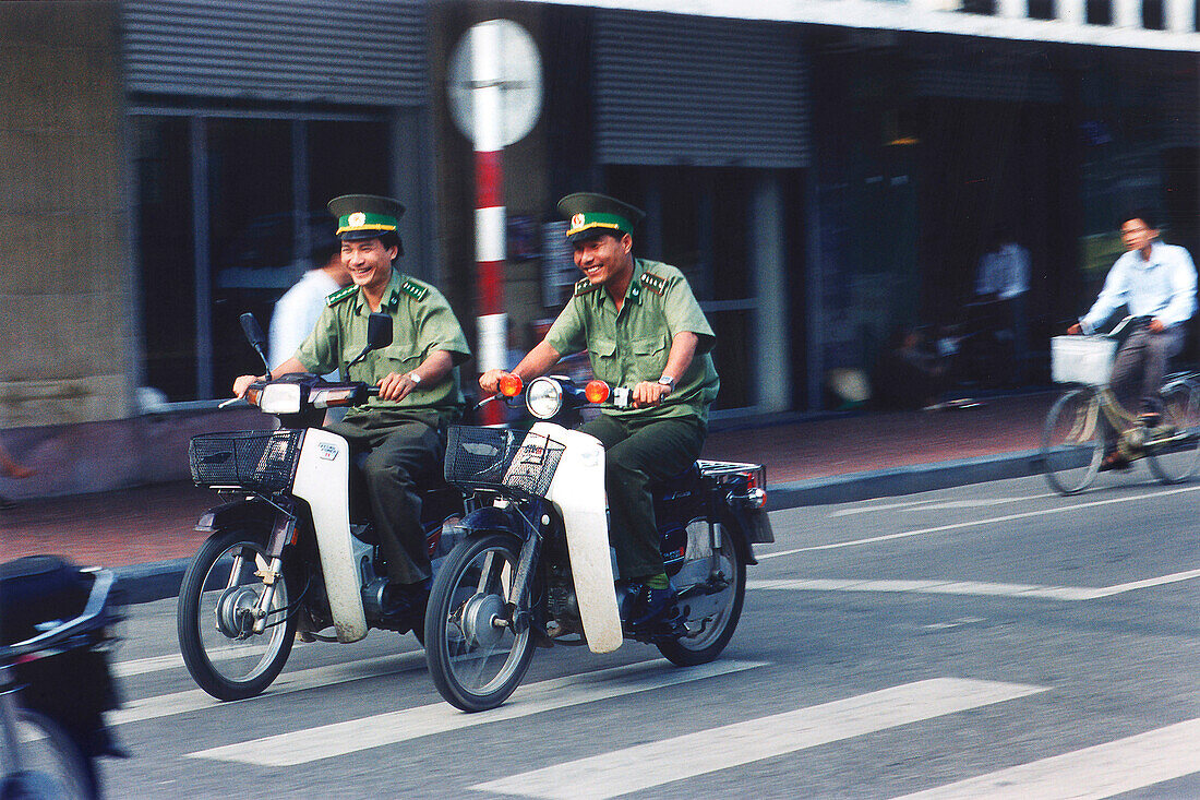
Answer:
<svg viewBox="0 0 1200 800"><path fill-rule="evenodd" d="M758 302L751 330L756 334L756 398L760 412L791 408L792 358L788 341L786 215L779 174L764 171L755 184L750 219L750 275Z"/></svg>

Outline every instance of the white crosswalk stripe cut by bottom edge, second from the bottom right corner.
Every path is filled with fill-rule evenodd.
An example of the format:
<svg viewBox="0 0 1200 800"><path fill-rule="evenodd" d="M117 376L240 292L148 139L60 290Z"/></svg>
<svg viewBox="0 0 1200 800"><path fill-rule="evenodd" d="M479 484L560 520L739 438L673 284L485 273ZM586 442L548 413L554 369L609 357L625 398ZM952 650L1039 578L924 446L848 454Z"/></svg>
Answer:
<svg viewBox="0 0 1200 800"><path fill-rule="evenodd" d="M551 800L602 800L1048 688L937 677L626 747L470 788Z"/></svg>

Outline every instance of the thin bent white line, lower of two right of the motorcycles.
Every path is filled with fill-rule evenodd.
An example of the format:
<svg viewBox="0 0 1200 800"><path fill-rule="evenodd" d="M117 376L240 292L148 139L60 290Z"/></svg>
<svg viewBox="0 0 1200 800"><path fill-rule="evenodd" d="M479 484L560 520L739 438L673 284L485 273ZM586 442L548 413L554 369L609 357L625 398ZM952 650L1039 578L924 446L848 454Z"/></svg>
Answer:
<svg viewBox="0 0 1200 800"><path fill-rule="evenodd" d="M836 580L828 578L748 580L746 589L764 591L816 592L917 592L922 595L977 595L996 597L1037 597L1057 601L1090 601L1123 595L1136 589L1162 586L1200 578L1200 569L1177 572L1115 586L1038 586L1033 584L986 584L968 580Z"/></svg>

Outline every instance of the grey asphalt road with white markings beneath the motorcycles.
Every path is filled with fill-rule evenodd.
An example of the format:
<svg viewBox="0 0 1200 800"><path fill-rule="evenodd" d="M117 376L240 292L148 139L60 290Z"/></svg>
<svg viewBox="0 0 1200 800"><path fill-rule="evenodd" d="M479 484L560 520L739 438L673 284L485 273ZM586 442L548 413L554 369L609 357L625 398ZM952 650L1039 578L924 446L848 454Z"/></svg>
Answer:
<svg viewBox="0 0 1200 800"><path fill-rule="evenodd" d="M1039 478L778 512L738 633L539 651L508 705L440 702L409 637L296 649L217 704L170 601L118 652L119 798L1200 796L1200 483Z"/></svg>

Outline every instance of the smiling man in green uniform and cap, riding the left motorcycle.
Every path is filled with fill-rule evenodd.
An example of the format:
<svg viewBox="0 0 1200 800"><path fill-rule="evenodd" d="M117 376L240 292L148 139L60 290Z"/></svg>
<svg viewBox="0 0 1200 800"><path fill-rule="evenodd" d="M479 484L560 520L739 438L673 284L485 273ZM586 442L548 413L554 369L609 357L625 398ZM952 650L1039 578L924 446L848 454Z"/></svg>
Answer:
<svg viewBox="0 0 1200 800"><path fill-rule="evenodd" d="M446 425L463 408L458 364L470 356L462 327L436 288L392 268L403 253L396 232L404 207L388 197L347 195L329 202L342 239L342 263L353 283L325 299L317 327L272 375L346 365L367 342L373 311L391 316L392 342L349 369L347 380L379 387L379 396L350 408L328 429L366 452L364 474L379 547L388 566L389 616L415 622L428 593L430 559L421 530L418 486L445 458ZM234 381L241 396L254 376Z"/></svg>

